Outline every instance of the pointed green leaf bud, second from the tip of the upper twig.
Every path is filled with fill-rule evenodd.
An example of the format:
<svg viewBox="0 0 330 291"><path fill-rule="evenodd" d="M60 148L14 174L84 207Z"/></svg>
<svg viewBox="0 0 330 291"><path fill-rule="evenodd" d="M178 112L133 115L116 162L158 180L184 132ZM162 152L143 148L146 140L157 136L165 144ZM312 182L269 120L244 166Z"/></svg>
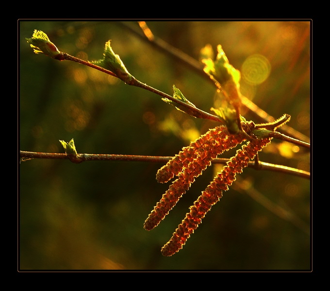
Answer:
<svg viewBox="0 0 330 291"><path fill-rule="evenodd" d="M105 43L103 59L91 63L115 73L119 79L127 83L133 79L133 76L128 72L119 55L115 54L110 42L111 40Z"/></svg>

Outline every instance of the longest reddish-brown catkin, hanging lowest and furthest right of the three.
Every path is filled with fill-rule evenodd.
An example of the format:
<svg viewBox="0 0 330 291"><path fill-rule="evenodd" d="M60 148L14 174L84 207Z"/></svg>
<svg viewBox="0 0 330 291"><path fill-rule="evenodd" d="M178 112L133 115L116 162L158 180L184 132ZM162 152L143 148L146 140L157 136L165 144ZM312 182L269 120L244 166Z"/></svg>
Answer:
<svg viewBox="0 0 330 291"><path fill-rule="evenodd" d="M172 238L163 246L162 254L164 256L172 256L181 250L187 239L201 223L206 212L220 200L222 191L228 190L228 187L236 179L236 174L242 173L243 168L247 167L249 160L253 159L258 151L269 142L270 139L268 138L263 140L256 139L249 142L246 146L242 146L242 149L237 150L236 155L227 162L223 170L202 192L194 205L190 207L190 211L173 233Z"/></svg>

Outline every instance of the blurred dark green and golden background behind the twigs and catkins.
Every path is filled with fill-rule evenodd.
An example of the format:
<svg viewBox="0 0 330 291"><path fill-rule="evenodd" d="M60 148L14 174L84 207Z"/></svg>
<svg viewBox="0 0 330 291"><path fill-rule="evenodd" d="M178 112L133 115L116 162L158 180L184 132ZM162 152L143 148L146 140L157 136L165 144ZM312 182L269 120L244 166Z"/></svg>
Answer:
<svg viewBox="0 0 330 291"><path fill-rule="evenodd" d="M127 25L138 28L137 22ZM262 55L270 73L259 84L242 78L245 96L289 126L310 135L308 21L147 21L157 37L198 60L222 45L242 70ZM138 80L169 95L175 84L210 112L214 87L117 21L19 21L19 149L63 153L173 156L217 124L177 111L160 97L73 62L37 55L25 38L48 34L60 51L83 60L102 57L105 42ZM252 72L253 73L253 72ZM243 73L242 73L243 75ZM247 120L256 120L243 112ZM235 151L224 155L230 157ZM264 162L309 171L304 148L273 141ZM169 240L220 169L209 167L154 230L143 223L169 184L162 164L30 160L19 165L21 270L304 270L310 268L310 181L246 169L203 219L183 249L163 257ZM259 197L259 199L258 199ZM261 198L260 198L261 197ZM264 200L271 201L265 207ZM281 208L281 210L278 210ZM287 211L287 212L284 212ZM283 218L284 217L284 218Z"/></svg>

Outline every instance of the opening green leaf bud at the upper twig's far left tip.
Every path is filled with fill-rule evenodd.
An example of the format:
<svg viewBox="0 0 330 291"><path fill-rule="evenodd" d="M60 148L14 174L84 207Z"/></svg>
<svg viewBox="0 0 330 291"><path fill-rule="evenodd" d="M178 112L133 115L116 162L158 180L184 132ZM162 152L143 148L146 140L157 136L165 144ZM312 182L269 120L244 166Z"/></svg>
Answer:
<svg viewBox="0 0 330 291"><path fill-rule="evenodd" d="M44 53L51 58L61 54L45 32L34 30L32 38L26 38L26 40L35 53Z"/></svg>

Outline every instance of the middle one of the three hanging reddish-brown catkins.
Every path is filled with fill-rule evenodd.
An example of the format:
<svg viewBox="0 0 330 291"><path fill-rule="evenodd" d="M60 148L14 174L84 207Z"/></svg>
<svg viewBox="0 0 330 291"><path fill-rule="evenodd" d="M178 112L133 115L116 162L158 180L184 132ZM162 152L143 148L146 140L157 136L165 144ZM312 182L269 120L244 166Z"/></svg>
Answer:
<svg viewBox="0 0 330 291"><path fill-rule="evenodd" d="M194 158L192 161L186 164L187 159L184 162L180 160L180 166L183 167L182 171L149 214L144 223L145 229L151 230L164 219L168 212L177 204L181 196L189 189L195 178L211 165L211 162L219 154L245 140L245 135L229 134L224 127L211 129L202 137L202 139L198 139L193 143ZM169 168L167 167L167 169Z"/></svg>

